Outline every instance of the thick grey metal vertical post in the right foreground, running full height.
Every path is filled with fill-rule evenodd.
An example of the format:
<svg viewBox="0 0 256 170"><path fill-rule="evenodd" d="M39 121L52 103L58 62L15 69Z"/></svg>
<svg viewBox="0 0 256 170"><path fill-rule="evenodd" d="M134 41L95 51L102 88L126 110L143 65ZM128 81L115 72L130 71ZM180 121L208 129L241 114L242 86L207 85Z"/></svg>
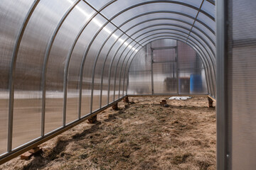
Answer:
<svg viewBox="0 0 256 170"><path fill-rule="evenodd" d="M228 5L216 1L216 60L217 60L217 169L232 169L232 123L228 111Z"/></svg>

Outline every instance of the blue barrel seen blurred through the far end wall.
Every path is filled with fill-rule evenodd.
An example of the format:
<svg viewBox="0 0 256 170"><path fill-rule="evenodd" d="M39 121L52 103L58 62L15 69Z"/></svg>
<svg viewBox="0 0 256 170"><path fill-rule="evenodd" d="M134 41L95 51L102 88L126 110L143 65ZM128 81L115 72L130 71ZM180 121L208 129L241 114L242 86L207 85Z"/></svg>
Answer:
<svg viewBox="0 0 256 170"><path fill-rule="evenodd" d="M190 92L200 93L203 91L202 77L201 74L191 74L190 79Z"/></svg>

